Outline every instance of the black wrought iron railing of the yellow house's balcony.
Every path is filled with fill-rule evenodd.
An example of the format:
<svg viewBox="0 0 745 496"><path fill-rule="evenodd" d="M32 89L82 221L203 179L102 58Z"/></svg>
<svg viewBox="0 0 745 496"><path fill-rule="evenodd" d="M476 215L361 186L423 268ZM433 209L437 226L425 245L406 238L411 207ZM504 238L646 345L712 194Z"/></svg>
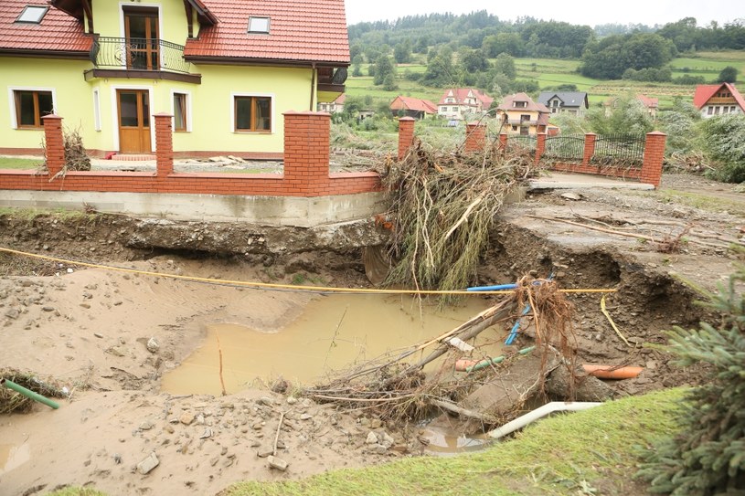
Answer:
<svg viewBox="0 0 745 496"><path fill-rule="evenodd" d="M99 37L90 48L90 61L101 69L191 71L184 47L163 39Z"/></svg>

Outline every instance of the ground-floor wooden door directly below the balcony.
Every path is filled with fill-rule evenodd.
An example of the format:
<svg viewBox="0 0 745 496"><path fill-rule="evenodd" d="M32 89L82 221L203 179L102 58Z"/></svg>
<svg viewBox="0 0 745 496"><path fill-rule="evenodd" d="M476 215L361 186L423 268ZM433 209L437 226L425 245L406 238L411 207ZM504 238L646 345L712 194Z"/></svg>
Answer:
<svg viewBox="0 0 745 496"><path fill-rule="evenodd" d="M116 90L119 152L151 153L150 99L147 90Z"/></svg>

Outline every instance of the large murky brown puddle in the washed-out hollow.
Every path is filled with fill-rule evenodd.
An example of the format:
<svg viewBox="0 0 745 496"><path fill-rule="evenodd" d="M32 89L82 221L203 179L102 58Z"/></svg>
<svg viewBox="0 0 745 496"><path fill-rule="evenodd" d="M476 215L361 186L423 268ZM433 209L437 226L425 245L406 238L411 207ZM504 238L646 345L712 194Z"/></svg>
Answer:
<svg viewBox="0 0 745 496"><path fill-rule="evenodd" d="M438 311L436 305L420 309L408 296L337 294L312 301L298 319L276 333L217 323L208 326L207 338L197 351L163 376L162 387L175 395L219 395L218 340L229 393L257 378L269 383L282 376L291 383L313 384L330 371L439 336L487 306L487 301L475 297L463 301L463 306ZM500 341L495 330L483 332L479 339ZM499 354L498 346L494 355ZM419 355L410 360L416 358Z"/></svg>

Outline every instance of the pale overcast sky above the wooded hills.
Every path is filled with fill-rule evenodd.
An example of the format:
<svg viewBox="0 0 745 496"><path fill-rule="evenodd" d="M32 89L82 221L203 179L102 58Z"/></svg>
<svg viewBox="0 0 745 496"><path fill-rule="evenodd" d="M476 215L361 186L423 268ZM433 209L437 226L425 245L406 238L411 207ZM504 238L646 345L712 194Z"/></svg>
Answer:
<svg viewBox="0 0 745 496"><path fill-rule="evenodd" d="M531 2L495 2L495 0L345 0L346 22L395 20L402 16L452 12L465 14L486 10L501 20L519 16L554 19L571 24L645 24L654 26L696 17L698 26L712 20L724 24L745 17L742 0L622 0L620 2L579 2L533 0Z"/></svg>

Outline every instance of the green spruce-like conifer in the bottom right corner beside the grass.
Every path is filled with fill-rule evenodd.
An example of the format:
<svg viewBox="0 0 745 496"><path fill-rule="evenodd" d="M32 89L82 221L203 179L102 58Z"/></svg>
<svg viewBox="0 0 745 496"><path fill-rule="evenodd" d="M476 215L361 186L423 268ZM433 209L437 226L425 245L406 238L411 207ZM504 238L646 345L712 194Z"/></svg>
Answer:
<svg viewBox="0 0 745 496"><path fill-rule="evenodd" d="M745 249L739 249L740 254ZM710 365L709 380L687 394L681 409L683 431L645 453L639 476L650 491L673 496L717 496L745 491L745 265L738 264L727 286L708 293L704 303L719 311L718 327L668 332L667 351L682 366Z"/></svg>

